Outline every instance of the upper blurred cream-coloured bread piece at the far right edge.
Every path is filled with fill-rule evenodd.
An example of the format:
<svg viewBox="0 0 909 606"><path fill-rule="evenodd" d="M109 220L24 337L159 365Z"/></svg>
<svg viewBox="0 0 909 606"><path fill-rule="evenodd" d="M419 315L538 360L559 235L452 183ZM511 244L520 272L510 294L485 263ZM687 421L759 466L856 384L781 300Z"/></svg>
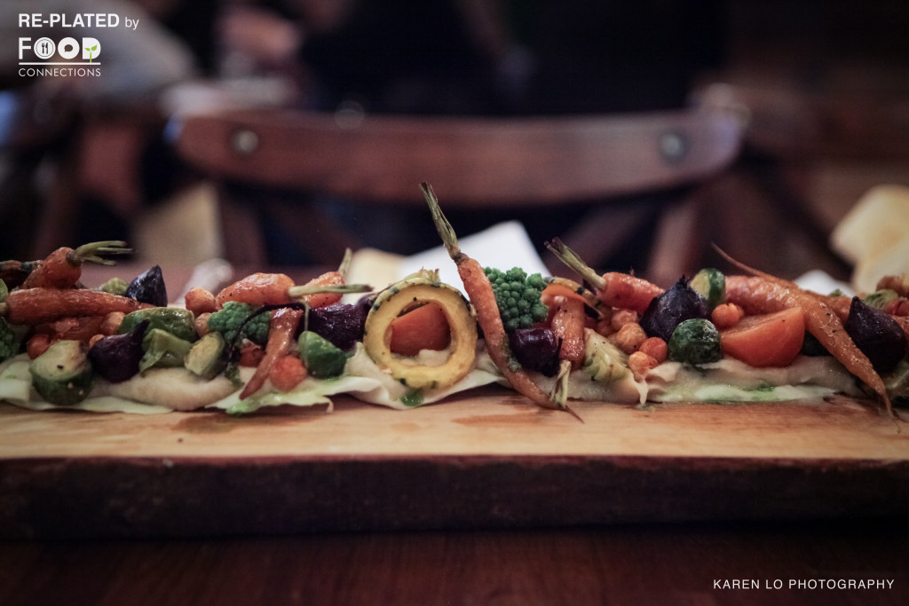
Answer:
<svg viewBox="0 0 909 606"><path fill-rule="evenodd" d="M883 184L868 190L855 203L831 233L830 245L844 259L858 265L872 263L872 258L906 237L909 187ZM859 284L855 286L858 288Z"/></svg>

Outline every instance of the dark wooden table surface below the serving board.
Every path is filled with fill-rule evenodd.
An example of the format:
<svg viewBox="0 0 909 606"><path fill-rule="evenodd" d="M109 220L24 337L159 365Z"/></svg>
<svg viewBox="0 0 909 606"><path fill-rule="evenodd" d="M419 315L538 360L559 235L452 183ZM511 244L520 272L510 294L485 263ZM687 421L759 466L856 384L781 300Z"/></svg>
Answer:
<svg viewBox="0 0 909 606"><path fill-rule="evenodd" d="M904 520L12 542L0 603L895 605L907 545ZM808 586L841 580L893 585Z"/></svg>

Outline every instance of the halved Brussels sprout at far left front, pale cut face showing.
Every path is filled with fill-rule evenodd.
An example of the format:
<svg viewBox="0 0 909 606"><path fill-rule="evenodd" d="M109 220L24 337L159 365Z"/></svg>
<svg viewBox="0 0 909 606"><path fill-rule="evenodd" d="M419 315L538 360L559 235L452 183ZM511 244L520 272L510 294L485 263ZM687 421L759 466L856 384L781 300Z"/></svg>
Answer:
<svg viewBox="0 0 909 606"><path fill-rule="evenodd" d="M72 406L85 400L95 374L88 361L88 346L81 341L58 341L29 366L32 385L45 401Z"/></svg>

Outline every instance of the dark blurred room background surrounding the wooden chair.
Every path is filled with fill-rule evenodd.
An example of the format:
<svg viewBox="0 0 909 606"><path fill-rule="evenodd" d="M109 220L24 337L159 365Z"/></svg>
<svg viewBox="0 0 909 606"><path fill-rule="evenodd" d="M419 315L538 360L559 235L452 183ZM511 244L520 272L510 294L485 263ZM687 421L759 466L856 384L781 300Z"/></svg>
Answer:
<svg viewBox="0 0 909 606"><path fill-rule="evenodd" d="M17 12L89 12L94 3L43 4L0 9L7 39L24 35ZM0 258L109 238L165 262L217 255L215 193L167 139L186 111L647 112L684 107L716 83L859 99L863 111L869 100L909 99L909 4L898 0L135 0L108 9L141 21L123 41L95 32L105 40L101 78L23 76L14 45L5 47ZM720 215L754 238L749 250L763 258L753 264L843 273L824 234L872 185L909 184L904 158L783 155L746 146L740 163L755 169L749 178L768 175L767 187L744 196L731 178ZM797 226L785 210L794 201L805 204ZM365 218L370 211L342 203L327 204L371 245L415 253L435 244L433 233L398 237L404 216ZM463 221L479 229L507 218L522 219L534 242L566 220L535 211ZM275 263L307 262L279 230L274 240ZM635 253L610 263L633 266Z"/></svg>

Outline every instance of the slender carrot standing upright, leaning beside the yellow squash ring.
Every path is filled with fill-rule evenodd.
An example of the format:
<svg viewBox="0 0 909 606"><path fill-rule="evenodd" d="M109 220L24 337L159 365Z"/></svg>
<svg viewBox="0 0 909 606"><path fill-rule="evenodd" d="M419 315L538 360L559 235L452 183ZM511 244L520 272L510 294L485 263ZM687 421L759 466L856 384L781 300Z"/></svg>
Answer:
<svg viewBox="0 0 909 606"><path fill-rule="evenodd" d="M426 203L429 204L429 209L433 214L435 230L445 243L448 255L457 265L458 275L461 276L461 282L464 283L464 291L474 304L476 321L483 330L486 349L495 365L517 392L524 394L538 406L571 412L566 406L560 406L558 402L554 402L519 365L514 363L502 317L499 315L499 308L495 303L492 283L489 282L480 263L462 253L458 248L454 228L448 223L445 214L442 214L433 188L426 183L420 184L420 188L423 190Z"/></svg>

